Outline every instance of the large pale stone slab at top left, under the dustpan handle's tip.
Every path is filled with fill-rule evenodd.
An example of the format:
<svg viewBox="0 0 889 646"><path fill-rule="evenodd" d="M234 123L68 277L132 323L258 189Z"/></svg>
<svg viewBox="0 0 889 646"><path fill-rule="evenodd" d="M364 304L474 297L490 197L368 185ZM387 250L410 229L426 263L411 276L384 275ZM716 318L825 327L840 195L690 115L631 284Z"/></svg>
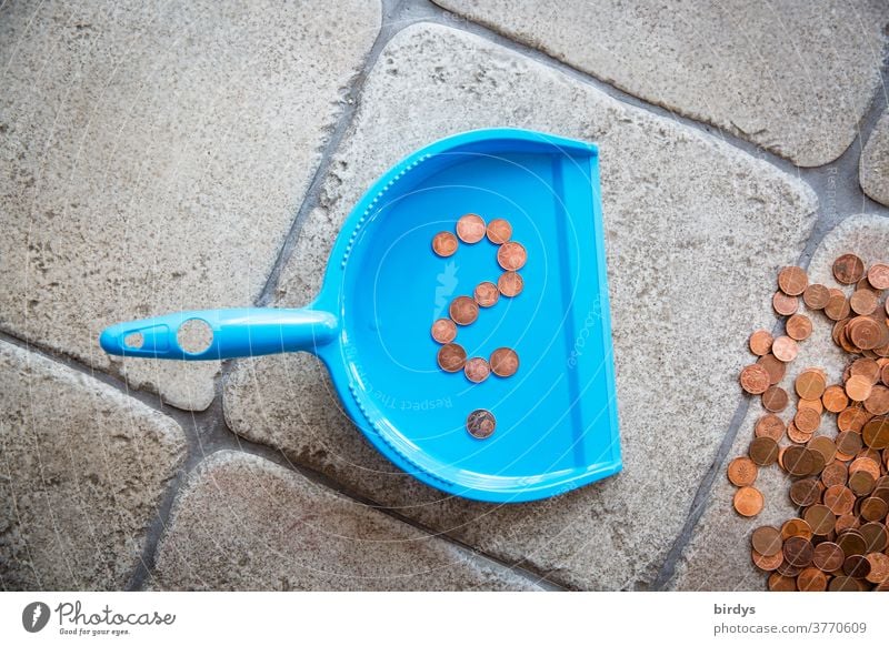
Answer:
<svg viewBox="0 0 889 646"><path fill-rule="evenodd" d="M209 406L218 364L99 332L254 301L379 27L378 0L0 7L0 329Z"/></svg>

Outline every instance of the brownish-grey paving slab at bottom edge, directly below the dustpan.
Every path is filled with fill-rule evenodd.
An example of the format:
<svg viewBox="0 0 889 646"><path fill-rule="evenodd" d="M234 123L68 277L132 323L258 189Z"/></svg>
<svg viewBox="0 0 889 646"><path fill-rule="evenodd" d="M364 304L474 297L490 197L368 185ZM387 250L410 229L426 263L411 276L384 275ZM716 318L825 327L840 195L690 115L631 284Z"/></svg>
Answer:
<svg viewBox="0 0 889 646"><path fill-rule="evenodd" d="M221 451L189 477L152 589L539 589L528 578L268 460Z"/></svg>

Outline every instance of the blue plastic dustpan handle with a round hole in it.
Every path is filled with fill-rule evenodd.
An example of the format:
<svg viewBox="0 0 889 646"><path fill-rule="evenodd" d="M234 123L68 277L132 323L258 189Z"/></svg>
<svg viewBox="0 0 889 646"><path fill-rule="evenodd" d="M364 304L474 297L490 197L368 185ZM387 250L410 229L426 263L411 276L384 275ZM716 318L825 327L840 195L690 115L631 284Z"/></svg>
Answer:
<svg viewBox="0 0 889 646"><path fill-rule="evenodd" d="M191 320L206 323L212 331L212 341L201 352L187 352L177 339L180 325ZM338 329L333 314L309 307L198 310L118 323L102 332L99 344L107 353L121 356L204 361L311 352L330 343Z"/></svg>

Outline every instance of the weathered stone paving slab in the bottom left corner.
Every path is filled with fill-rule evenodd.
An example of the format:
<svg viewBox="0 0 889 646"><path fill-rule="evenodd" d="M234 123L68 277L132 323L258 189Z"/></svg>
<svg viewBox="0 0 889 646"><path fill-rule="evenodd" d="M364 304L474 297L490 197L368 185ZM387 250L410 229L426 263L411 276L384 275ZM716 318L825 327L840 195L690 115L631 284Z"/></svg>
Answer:
<svg viewBox="0 0 889 646"><path fill-rule="evenodd" d="M184 451L169 417L0 342L0 587L124 587Z"/></svg>

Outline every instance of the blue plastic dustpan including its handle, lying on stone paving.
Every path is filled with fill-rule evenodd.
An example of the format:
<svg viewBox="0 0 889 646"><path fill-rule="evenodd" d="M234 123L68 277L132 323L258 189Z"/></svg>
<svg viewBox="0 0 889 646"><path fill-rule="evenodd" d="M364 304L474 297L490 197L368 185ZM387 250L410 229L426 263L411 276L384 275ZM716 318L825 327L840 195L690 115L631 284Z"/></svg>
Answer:
<svg viewBox="0 0 889 646"><path fill-rule="evenodd" d="M508 220L528 254L525 290L459 327L469 356L506 346L520 357L515 375L479 384L441 371L430 335L455 297L502 272L487 239L433 253L433 235L468 212ZM533 501L621 467L605 268L596 147L478 130L414 152L371 186L311 305L181 312L113 325L100 343L187 361L312 352L358 427L400 468L458 496ZM191 319L212 329L202 352L177 341ZM487 440L467 432L477 408L497 421Z"/></svg>

